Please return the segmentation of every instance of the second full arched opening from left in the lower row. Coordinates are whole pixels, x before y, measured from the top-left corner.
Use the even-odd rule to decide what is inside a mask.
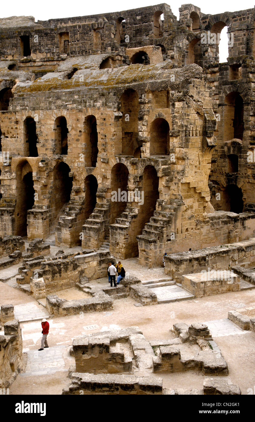
[[[52,218],[58,219],[60,211],[66,203],[70,201],[73,187],[73,177],[69,176],[70,167],[65,162],[60,162],[53,169],[53,189],[52,189]]]

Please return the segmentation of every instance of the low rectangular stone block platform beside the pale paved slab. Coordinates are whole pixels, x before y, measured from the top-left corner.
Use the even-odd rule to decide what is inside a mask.
[[[240,290],[239,276],[232,271],[204,271],[182,276],[182,287],[195,298]]]

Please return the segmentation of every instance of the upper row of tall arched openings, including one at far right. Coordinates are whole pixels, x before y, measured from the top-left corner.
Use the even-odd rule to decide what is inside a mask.
[[[127,89],[120,98],[122,112],[122,149],[119,155],[141,157],[142,143],[138,138],[139,97],[134,89]],[[224,141],[237,138],[242,140],[244,133],[244,101],[239,92],[231,92],[224,103]],[[169,124],[164,118],[155,118],[150,126],[150,150],[152,156],[168,155],[170,148]],[[2,133],[0,133],[1,136]],[[38,157],[38,135],[33,117],[24,120],[24,156]],[[85,166],[95,167],[98,158],[98,131],[95,116],[84,119],[83,141],[86,151]],[[64,116],[54,122],[54,153],[68,154],[68,127]]]

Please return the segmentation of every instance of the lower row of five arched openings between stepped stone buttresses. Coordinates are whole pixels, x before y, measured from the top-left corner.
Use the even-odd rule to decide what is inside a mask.
[[[50,221],[52,225],[56,217],[59,216],[63,206],[70,201],[73,178],[69,176],[70,168],[65,162],[57,163],[53,169],[52,192],[50,199]],[[127,192],[129,171],[122,163],[117,163],[111,169],[111,191],[120,189]],[[88,175],[85,179],[85,200],[84,200],[84,220],[92,214],[97,202],[98,181],[93,175]],[[136,243],[136,236],[141,234],[142,229],[149,218],[153,215],[159,198],[159,177],[152,165],[144,168],[141,189],[144,192],[144,203],[141,204],[136,224],[133,227],[131,239]],[[33,181],[33,170],[31,165],[24,160],[16,170],[16,235],[27,235],[27,215],[35,203],[35,189]],[[111,202],[109,224],[114,224],[115,220],[122,214],[127,206],[126,201]]]

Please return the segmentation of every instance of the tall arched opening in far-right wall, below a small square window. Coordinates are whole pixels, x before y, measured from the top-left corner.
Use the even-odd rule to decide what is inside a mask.
[[[224,106],[224,141],[233,138],[243,140],[244,101],[239,92],[230,92],[225,97]]]

